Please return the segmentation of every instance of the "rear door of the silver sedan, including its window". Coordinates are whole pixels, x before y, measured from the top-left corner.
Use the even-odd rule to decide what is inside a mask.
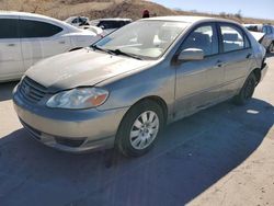
[[[254,60],[251,43],[243,30],[229,23],[219,23],[221,42],[220,61],[225,68],[225,82],[221,96],[227,99],[236,94],[249,75]]]

